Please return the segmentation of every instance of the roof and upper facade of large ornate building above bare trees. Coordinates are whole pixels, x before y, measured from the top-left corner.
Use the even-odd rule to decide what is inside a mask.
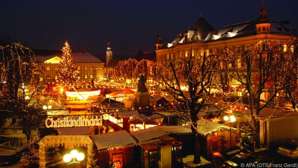
[[[298,29],[289,21],[269,22],[262,0],[259,18],[254,21],[248,20],[226,25],[224,29],[215,30],[201,15],[191,29],[185,31],[184,34],[180,33],[166,45],[163,44],[159,33],[155,44],[156,61],[167,65],[171,60],[187,58],[191,45],[197,53],[202,53],[205,49],[207,54],[224,54],[225,50],[229,49],[240,54],[245,47],[255,45],[265,38],[288,40],[297,36]]]

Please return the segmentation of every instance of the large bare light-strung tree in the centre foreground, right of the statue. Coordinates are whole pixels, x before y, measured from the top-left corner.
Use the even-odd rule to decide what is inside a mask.
[[[198,130],[199,112],[210,116],[220,116],[228,108],[224,98],[229,96],[219,86],[220,62],[223,57],[210,54],[207,50],[195,52],[192,47],[187,54],[177,61],[169,62],[164,68],[157,68],[159,78],[155,79],[174,99],[185,107],[186,120],[190,122],[194,136],[194,163],[200,163],[200,142]],[[161,66],[160,66],[161,67]],[[223,102],[218,106],[218,102]],[[236,103],[236,102],[234,102]],[[210,111],[208,108],[216,108]]]

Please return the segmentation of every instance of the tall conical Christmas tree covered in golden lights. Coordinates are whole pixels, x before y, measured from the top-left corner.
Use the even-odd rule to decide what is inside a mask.
[[[77,83],[79,76],[77,76],[77,71],[75,68],[75,61],[72,57],[72,50],[68,45],[67,41],[65,46],[62,48],[62,60],[60,61],[60,71],[58,72],[57,82],[59,84],[72,85]]]

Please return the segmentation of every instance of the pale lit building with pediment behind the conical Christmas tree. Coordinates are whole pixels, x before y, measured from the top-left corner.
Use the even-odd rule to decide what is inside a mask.
[[[58,77],[62,51],[60,50],[33,50],[36,61],[45,70],[45,75],[55,80]],[[82,81],[103,80],[104,62],[96,58],[88,51],[73,51],[72,56],[75,60],[75,66],[78,76]]]

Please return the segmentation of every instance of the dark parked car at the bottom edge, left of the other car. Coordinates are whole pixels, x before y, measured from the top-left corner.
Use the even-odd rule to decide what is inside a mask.
[[[224,168],[242,168],[241,163],[259,163],[261,160],[250,153],[239,153],[224,162]]]

